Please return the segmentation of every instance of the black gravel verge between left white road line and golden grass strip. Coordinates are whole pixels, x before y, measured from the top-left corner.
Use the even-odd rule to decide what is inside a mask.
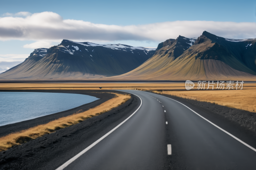
[[[82,90],[78,92],[80,93]],[[124,93],[118,91],[108,92]],[[98,94],[105,95],[104,93]],[[95,97],[103,98],[100,96]],[[140,99],[137,96],[131,95],[130,100],[109,112],[44,135],[26,144],[16,145],[5,152],[0,152],[0,169],[56,169],[124,121],[139,105]],[[94,106],[89,105],[84,107],[84,109],[86,110]],[[81,108],[77,109],[81,110]],[[73,110],[74,112],[76,110]],[[62,115],[59,114],[57,117],[60,116]],[[49,119],[47,120],[49,121]]]

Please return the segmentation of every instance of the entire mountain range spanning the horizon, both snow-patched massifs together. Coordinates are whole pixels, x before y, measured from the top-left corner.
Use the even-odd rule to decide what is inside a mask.
[[[58,46],[36,49],[0,78],[255,80],[255,42],[256,39],[228,39],[206,31],[198,38],[179,35],[168,39],[159,43],[156,50],[63,40]]]

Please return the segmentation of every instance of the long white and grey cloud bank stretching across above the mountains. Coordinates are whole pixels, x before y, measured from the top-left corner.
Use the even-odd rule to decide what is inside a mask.
[[[0,40],[34,40],[41,41],[41,43],[62,39],[94,42],[165,41],[179,35],[190,38],[198,37],[203,31],[225,38],[244,39],[255,38],[255,30],[255,22],[173,21],[147,25],[105,25],[83,20],[63,20],[59,14],[54,12],[34,13],[25,18],[0,18]],[[32,48],[35,44],[28,44],[24,47]]]

